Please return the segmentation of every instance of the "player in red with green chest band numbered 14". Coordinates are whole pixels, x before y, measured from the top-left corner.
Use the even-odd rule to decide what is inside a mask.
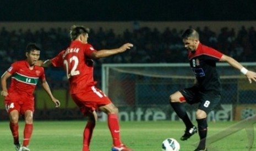
[[[15,150],[28,151],[28,145],[33,130],[34,96],[37,82],[41,81],[43,89],[51,97],[56,107],[60,102],[53,97],[49,85],[45,79],[43,67],[35,66],[34,62],[40,57],[40,49],[36,44],[28,44],[26,47],[26,60],[12,63],[9,69],[1,77],[4,103],[10,118],[10,131],[12,131]],[[7,90],[7,79],[11,77],[9,89]],[[23,146],[19,142],[19,114],[24,115],[24,141]]]

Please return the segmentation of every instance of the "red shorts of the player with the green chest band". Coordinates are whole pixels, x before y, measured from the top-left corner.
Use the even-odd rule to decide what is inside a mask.
[[[35,102],[34,97],[18,96],[15,98],[6,97],[4,100],[6,110],[8,113],[17,110],[20,114],[24,115],[25,111],[30,110],[34,113]]]

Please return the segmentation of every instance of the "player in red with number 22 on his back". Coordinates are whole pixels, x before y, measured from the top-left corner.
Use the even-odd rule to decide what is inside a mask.
[[[66,70],[70,84],[70,95],[80,108],[80,111],[89,117],[84,129],[83,151],[89,150],[92,132],[97,120],[96,110],[105,112],[108,116],[108,127],[113,139],[112,150],[132,150],[121,142],[118,108],[104,92],[95,87],[93,78],[94,62],[92,59],[123,53],[133,47],[133,44],[126,43],[117,49],[97,51],[87,42],[88,33],[88,29],[83,26],[72,26],[70,29],[70,38],[72,40],[70,46],[51,60],[43,63],[38,61],[37,65],[44,67],[53,65],[55,67],[64,67]]]

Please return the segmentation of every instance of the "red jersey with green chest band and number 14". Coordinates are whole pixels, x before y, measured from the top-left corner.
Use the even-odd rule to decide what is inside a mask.
[[[11,99],[21,95],[23,97],[33,97],[33,92],[39,78],[45,79],[43,67],[34,66],[33,69],[30,69],[29,63],[26,60],[14,62],[7,72],[12,74],[8,89],[9,95],[7,96]]]

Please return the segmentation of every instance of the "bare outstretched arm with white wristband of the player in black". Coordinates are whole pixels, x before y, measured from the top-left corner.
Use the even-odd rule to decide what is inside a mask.
[[[229,63],[232,67],[239,69],[244,75],[246,75],[247,79],[249,80],[249,83],[252,83],[252,80],[254,80],[254,82],[256,82],[256,73],[253,71],[248,71],[248,69],[243,67],[241,65],[241,63],[239,63],[232,57],[223,55],[221,57],[220,61],[223,61],[223,62],[225,61],[225,62]]]

